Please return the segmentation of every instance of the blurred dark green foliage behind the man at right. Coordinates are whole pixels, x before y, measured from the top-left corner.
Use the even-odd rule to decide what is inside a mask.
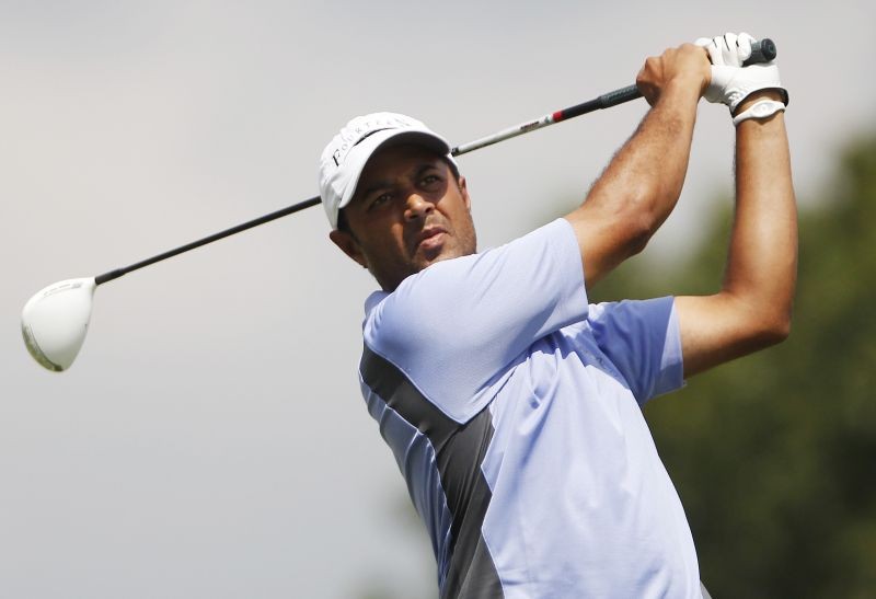
[[[800,219],[782,345],[692,379],[646,415],[715,597],[876,596],[876,137]],[[729,215],[671,280],[621,269],[603,298],[717,290]]]

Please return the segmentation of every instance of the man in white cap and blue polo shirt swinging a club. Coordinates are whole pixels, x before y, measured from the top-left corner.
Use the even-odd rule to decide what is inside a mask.
[[[429,531],[441,597],[702,596],[641,406],[788,334],[787,95],[774,65],[741,68],[751,39],[648,58],[637,85],[652,108],[584,204],[480,254],[465,178],[422,123],[360,117],[323,152],[330,237],[382,288],[366,301],[362,393]],[[737,127],[721,291],[588,306],[672,210],[703,94]]]

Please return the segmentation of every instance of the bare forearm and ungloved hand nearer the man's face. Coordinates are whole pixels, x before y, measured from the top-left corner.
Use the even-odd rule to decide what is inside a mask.
[[[575,229],[588,286],[641,252],[676,206],[708,77],[706,53],[691,44],[645,62],[636,84],[650,111],[584,204],[565,217]]]

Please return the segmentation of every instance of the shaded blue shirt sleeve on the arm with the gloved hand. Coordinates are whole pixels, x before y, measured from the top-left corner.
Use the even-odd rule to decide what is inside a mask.
[[[624,377],[639,405],[683,385],[673,298],[595,304],[588,321],[597,345]]]

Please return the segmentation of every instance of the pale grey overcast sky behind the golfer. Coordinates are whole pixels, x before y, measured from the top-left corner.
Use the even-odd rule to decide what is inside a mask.
[[[463,142],[725,31],[779,46],[806,204],[873,129],[874,23],[865,0],[0,0],[0,596],[434,596],[358,390],[374,284],[321,208],[101,287],[62,375],[27,356],[25,301],[315,195],[323,146],[357,114]],[[570,209],[645,108],[461,158],[481,245]],[[657,267],[730,192],[731,152],[726,108],[703,103]]]

